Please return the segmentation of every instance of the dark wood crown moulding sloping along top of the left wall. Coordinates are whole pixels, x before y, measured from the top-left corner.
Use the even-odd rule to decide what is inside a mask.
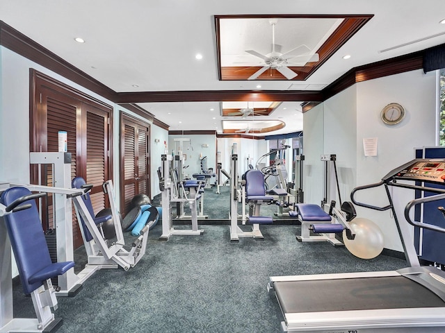
[[[31,40],[31,38],[15,30],[15,28],[8,26],[3,21],[0,21],[0,44],[51,71],[55,71],[57,74],[72,80],[82,87],[86,87],[92,92],[104,96],[106,99],[111,101],[114,99],[115,91],[74,67],[55,53],[45,49],[42,45]]]

